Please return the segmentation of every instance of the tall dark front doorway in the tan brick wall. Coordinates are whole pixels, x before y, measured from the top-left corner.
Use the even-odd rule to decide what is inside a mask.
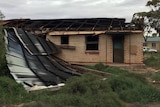
[[[113,62],[124,62],[124,36],[113,36]]]

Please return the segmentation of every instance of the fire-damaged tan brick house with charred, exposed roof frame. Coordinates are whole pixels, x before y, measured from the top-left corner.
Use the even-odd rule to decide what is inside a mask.
[[[43,34],[72,64],[143,64],[143,30],[123,18],[10,20],[6,26]]]

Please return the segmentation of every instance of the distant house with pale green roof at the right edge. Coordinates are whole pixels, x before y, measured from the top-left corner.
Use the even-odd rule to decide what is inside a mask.
[[[160,51],[160,37],[146,37],[143,45]]]

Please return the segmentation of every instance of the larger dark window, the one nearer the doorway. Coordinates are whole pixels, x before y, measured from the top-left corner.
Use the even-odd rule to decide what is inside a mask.
[[[98,36],[86,36],[86,50],[98,50]]]

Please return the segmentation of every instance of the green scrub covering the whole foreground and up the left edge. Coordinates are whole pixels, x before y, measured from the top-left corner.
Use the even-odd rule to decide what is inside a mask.
[[[2,31],[1,31],[2,32]],[[22,84],[10,78],[6,60],[3,34],[0,36],[0,106],[23,104],[23,107],[125,107],[129,103],[160,101],[160,90],[148,84],[143,75],[98,63],[87,66],[95,70],[114,74],[103,78],[86,73],[67,80],[58,92],[37,91],[28,93]],[[147,55],[147,66],[158,67],[160,55]],[[157,64],[157,65],[156,65]],[[160,80],[160,73],[152,75]]]

